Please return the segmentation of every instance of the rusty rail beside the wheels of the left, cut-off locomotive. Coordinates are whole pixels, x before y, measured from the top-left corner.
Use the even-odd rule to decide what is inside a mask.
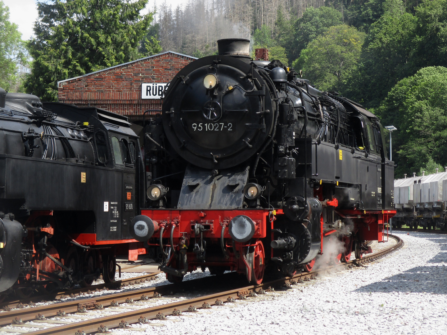
[[[21,306],[21,308],[26,307],[28,305],[34,305],[37,302],[42,301],[50,301],[50,300],[60,300],[64,297],[70,296],[75,297],[76,295],[79,295],[80,293],[88,293],[88,292],[94,292],[99,291],[101,289],[119,289],[124,286],[135,284],[135,282],[144,282],[144,281],[151,281],[155,279],[155,277],[160,273],[160,271],[149,273],[143,276],[128,278],[128,279],[121,279],[118,281],[115,281],[113,283],[102,283],[97,285],[91,285],[89,287],[79,287],[75,289],[66,289],[66,290],[58,290],[57,292],[53,293],[47,293],[47,294],[40,294],[31,296],[28,299],[13,299],[13,300],[5,300],[0,303],[0,309],[3,310],[9,310],[11,308],[16,308],[17,306]],[[0,313],[1,315],[1,313]]]

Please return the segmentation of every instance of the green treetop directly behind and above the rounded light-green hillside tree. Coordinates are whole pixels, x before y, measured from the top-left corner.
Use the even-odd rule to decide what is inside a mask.
[[[287,40],[288,59],[297,59],[301,50],[333,25],[342,24],[342,13],[329,7],[308,8],[302,17],[292,25],[291,36]]]

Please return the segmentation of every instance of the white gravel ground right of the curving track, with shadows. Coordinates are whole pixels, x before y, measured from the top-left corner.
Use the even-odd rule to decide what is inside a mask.
[[[405,246],[364,268],[264,301],[213,306],[202,314],[168,317],[172,321],[164,326],[114,333],[447,334],[447,235],[396,235]]]

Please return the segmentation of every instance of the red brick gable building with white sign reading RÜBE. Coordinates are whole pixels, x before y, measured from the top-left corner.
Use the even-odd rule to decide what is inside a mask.
[[[147,109],[161,109],[166,84],[194,57],[167,51],[58,82],[58,100],[95,106],[142,119]],[[156,93],[155,99],[152,99]]]

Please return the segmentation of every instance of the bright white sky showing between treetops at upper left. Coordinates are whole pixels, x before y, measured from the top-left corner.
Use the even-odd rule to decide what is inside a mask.
[[[33,26],[37,20],[36,0],[2,0],[6,6],[9,7],[9,21],[16,23],[19,26],[19,31],[22,33],[22,39],[27,40],[34,34]],[[157,6],[162,4],[164,0],[155,0]],[[186,3],[187,0],[166,0],[168,4],[172,4],[173,8],[178,4]],[[154,0],[149,0],[149,9],[154,8]],[[142,12],[143,13],[143,12]]]

